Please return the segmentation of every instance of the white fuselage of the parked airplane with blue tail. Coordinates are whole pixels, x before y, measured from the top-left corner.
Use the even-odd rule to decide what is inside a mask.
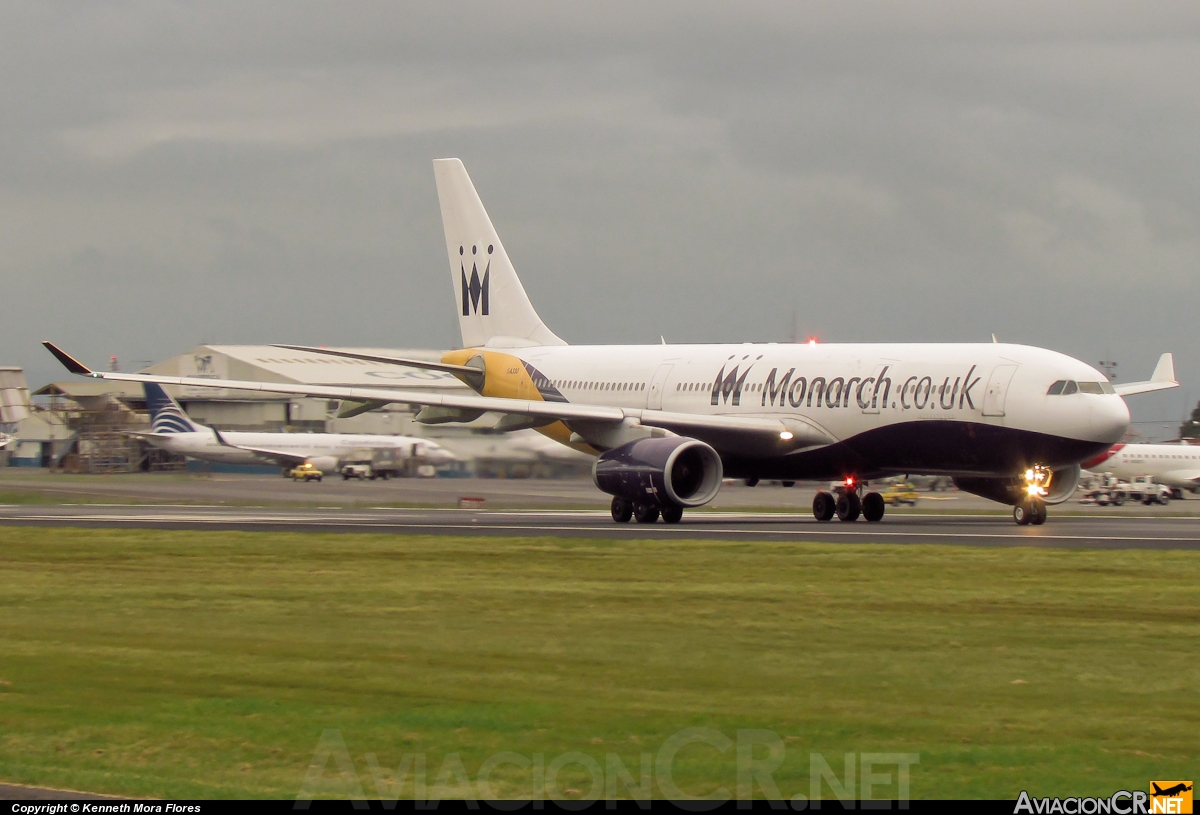
[[[157,448],[227,465],[262,465],[266,460],[240,447],[277,450],[307,460],[336,459],[341,461],[356,450],[390,449],[397,459],[451,457],[443,449],[427,439],[412,436],[371,436],[365,433],[245,433],[226,432],[222,437],[228,444],[221,444],[212,431],[204,427],[191,433],[161,433],[148,438]],[[233,447],[230,447],[233,445]]]

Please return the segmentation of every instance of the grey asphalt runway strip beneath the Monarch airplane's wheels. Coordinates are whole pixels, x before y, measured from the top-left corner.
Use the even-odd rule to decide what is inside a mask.
[[[880,523],[818,523],[799,513],[694,511],[682,523],[614,523],[604,510],[265,509],[172,505],[0,505],[11,526],[247,532],[505,535],[622,540],[776,540],[1061,549],[1200,550],[1200,520],[1111,515],[1019,527],[997,515],[905,513]]]

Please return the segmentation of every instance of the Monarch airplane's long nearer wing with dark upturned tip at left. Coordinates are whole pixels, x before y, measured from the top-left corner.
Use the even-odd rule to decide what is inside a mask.
[[[721,438],[738,438],[770,442],[778,449],[802,449],[820,444],[829,444],[835,439],[824,431],[802,420],[781,421],[778,419],[754,417],[701,415],[690,413],[670,413],[638,408],[619,408],[607,404],[577,404],[574,402],[540,402],[520,398],[502,398],[497,396],[479,396],[466,394],[430,394],[415,390],[379,390],[374,388],[348,388],[341,385],[283,384],[275,382],[247,382],[240,379],[205,379],[199,377],[161,377],[146,373],[120,373],[92,371],[83,362],[64,352],[52,342],[42,344],[62,362],[71,372],[89,376],[95,379],[113,379],[116,382],[154,382],[160,385],[186,385],[194,388],[230,388],[264,394],[288,394],[292,396],[313,396],[318,398],[341,398],[361,403],[402,403],[420,404],[426,408],[438,408],[451,417],[463,414],[479,415],[482,412],[506,413],[518,417],[545,419],[546,424],[562,420],[568,424],[617,426],[631,421],[648,427],[662,427],[671,432],[682,432],[709,443]],[[451,419],[456,420],[456,419]],[[466,420],[466,419],[463,419]]]

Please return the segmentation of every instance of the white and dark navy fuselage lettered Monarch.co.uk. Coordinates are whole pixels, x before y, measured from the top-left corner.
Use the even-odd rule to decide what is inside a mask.
[[[1104,374],[1028,346],[541,346],[504,353],[534,368],[547,401],[773,418],[815,427],[830,442],[756,456],[712,441],[731,475],[1013,473],[1032,463],[1076,463],[1120,439],[1129,423]],[[1088,383],[1096,392],[1050,395],[1060,380]]]

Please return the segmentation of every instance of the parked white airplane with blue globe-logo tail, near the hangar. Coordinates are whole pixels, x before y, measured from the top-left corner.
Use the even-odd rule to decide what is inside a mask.
[[[368,436],[362,433],[245,433],[218,432],[192,421],[162,385],[143,382],[150,431],[133,431],[156,448],[227,465],[281,467],[312,465],[323,472],[335,472],[340,462],[355,450],[392,449],[402,459],[415,456],[427,463],[455,461],[452,453],[424,438],[412,436]]]

